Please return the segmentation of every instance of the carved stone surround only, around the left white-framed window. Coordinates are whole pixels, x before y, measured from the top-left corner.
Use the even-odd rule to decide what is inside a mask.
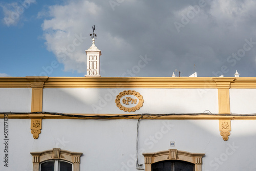
[[[80,157],[82,153],[53,148],[43,152],[31,152],[30,154],[33,156],[33,171],[40,171],[40,164],[51,160],[71,163],[72,171],[80,170]]]

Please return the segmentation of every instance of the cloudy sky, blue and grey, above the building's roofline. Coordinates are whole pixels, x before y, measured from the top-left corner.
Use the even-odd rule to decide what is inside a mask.
[[[101,76],[256,77],[253,0],[4,0],[0,76],[84,76],[101,50]]]

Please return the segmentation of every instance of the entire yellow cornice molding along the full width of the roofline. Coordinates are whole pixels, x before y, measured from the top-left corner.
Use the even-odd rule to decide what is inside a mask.
[[[256,89],[255,77],[0,77],[0,88]]]

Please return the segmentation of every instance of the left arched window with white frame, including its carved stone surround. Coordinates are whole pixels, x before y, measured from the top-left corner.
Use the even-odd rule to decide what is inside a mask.
[[[82,153],[53,148],[44,152],[32,152],[33,171],[79,171]]]

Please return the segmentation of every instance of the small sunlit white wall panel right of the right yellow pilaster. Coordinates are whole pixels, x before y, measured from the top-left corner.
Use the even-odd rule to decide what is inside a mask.
[[[231,113],[256,113],[256,89],[230,89],[229,96]]]

